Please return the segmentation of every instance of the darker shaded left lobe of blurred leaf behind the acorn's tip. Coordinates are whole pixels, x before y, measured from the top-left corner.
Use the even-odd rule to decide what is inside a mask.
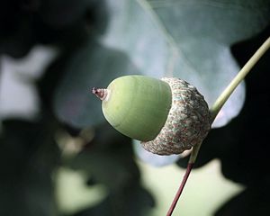
[[[58,118],[78,128],[104,121],[101,102],[91,93],[92,88],[104,87],[117,76],[138,73],[121,51],[88,40],[74,52],[58,85],[54,97]]]

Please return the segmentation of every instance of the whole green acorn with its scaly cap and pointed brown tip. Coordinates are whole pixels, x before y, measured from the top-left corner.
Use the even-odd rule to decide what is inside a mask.
[[[193,148],[211,128],[202,94],[180,78],[121,76],[92,92],[102,100],[103,115],[112,127],[157,155]]]

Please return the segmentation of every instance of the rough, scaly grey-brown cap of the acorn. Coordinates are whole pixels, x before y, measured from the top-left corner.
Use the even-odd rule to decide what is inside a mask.
[[[180,154],[202,142],[211,128],[207,103],[197,89],[179,78],[162,78],[171,87],[172,105],[157,137],[141,142],[157,155]]]

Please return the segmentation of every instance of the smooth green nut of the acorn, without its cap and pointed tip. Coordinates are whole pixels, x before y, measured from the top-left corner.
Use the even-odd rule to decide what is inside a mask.
[[[140,141],[157,137],[171,106],[169,85],[147,76],[121,76],[105,91],[102,109],[112,127]]]

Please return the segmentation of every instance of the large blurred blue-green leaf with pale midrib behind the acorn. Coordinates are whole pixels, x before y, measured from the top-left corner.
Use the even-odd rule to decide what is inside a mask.
[[[55,97],[58,117],[76,127],[103,121],[100,103],[88,89],[127,74],[182,77],[213,103],[238,72],[229,47],[262,31],[270,18],[263,0],[107,4],[110,23],[102,43],[91,40],[77,50]],[[219,125],[238,114],[244,93],[242,84],[223,108]]]

